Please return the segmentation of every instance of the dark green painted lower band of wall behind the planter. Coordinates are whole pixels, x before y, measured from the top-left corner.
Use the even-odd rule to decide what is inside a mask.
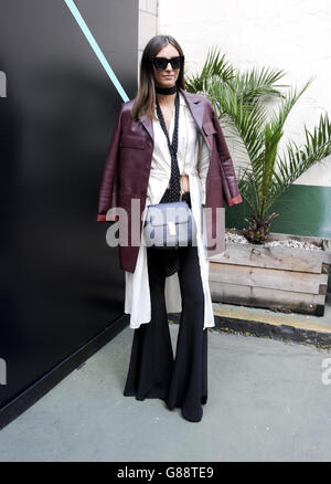
[[[292,185],[271,207],[277,212],[270,232],[292,235],[316,235],[331,239],[331,188]],[[226,228],[247,229],[249,207],[245,203],[225,206]],[[331,274],[328,281],[331,292]]]

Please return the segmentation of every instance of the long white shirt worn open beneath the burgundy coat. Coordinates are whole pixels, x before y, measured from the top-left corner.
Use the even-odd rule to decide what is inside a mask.
[[[170,143],[172,140],[173,129],[174,112],[169,128]],[[148,204],[159,203],[171,177],[171,156],[167,137],[158,119],[153,120],[153,134],[154,148],[151,160],[146,208],[142,212],[142,224]],[[207,252],[203,242],[204,227],[202,218],[202,204],[205,203],[205,179],[210,164],[210,151],[182,94],[180,94],[179,146],[177,156],[180,175],[189,175],[190,180],[190,198],[192,214],[196,224],[196,245],[204,292],[203,328],[205,329],[206,327],[215,326],[209,285]],[[143,231],[141,232],[141,244],[138,252],[135,272],[130,273],[125,271],[125,313],[130,314],[130,327],[135,329],[141,324],[151,320],[147,246],[143,243]],[[180,313],[182,311],[178,272],[166,277],[164,297],[167,313]]]

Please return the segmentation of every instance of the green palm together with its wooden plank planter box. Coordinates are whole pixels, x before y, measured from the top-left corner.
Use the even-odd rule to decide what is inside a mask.
[[[244,152],[238,186],[250,217],[244,230],[227,230],[224,254],[211,257],[213,301],[322,315],[331,263],[330,239],[270,232],[273,206],[305,171],[331,154],[328,114],[298,146],[284,140],[284,125],[301,90],[277,84],[281,70],[235,70],[212,50],[199,74],[186,76],[189,92],[206,94],[225,133]],[[284,91],[285,90],[285,91]],[[277,101],[277,108],[270,108]],[[238,151],[238,152],[239,152]]]

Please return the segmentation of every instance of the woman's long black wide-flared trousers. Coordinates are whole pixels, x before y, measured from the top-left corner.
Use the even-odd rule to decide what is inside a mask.
[[[202,419],[207,400],[207,329],[204,324],[204,293],[196,246],[182,246],[179,282],[182,312],[175,358],[166,311],[166,275],[162,251],[147,248],[151,297],[151,320],[135,329],[124,394],[137,400],[160,398],[172,410],[181,408],[190,421]]]

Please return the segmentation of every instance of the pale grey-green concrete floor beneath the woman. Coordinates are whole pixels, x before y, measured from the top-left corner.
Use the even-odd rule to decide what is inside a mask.
[[[170,330],[175,349],[178,326]],[[132,332],[7,425],[0,461],[331,460],[330,351],[209,332],[209,401],[202,421],[189,422],[161,400],[122,396]]]

